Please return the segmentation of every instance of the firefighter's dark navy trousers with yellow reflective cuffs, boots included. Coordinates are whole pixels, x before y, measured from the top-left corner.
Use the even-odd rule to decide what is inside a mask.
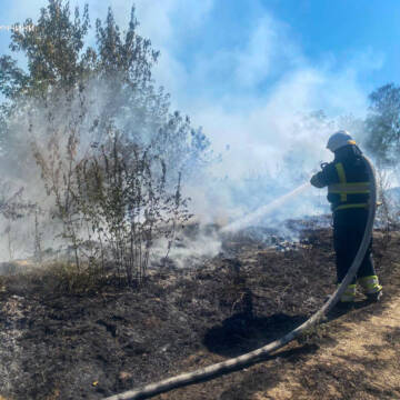
[[[343,280],[356,258],[364,233],[367,220],[367,209],[344,209],[333,213],[333,246],[338,283]],[[354,300],[357,282],[362,287],[366,294],[377,293],[382,289],[373,268],[371,250],[372,239],[358,270],[357,278],[348,286],[341,297],[341,301],[347,302]]]

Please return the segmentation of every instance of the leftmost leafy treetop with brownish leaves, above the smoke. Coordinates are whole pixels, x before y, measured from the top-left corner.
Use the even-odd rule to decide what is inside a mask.
[[[14,24],[10,49],[24,53],[28,71],[21,70],[9,56],[0,58],[0,90],[7,98],[43,96],[54,86],[70,89],[90,71],[94,53],[91,48],[82,53],[89,29],[88,6],[82,20],[78,8],[73,21],[70,17],[69,3],[50,0],[41,9],[37,24],[30,18],[22,26]]]

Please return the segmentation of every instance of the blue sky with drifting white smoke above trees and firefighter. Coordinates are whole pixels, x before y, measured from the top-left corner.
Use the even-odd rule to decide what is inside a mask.
[[[70,1],[82,6],[84,1]],[[111,4],[123,28],[126,0],[93,1],[92,21]],[[0,26],[38,16],[46,0],[0,0]],[[293,139],[298,112],[366,113],[368,93],[400,71],[399,0],[138,0],[140,32],[161,50],[154,69],[172,106],[213,140],[230,144],[226,169],[266,168],[288,142],[309,143],[314,158],[328,132]],[[93,40],[93,36],[91,39]],[[0,53],[9,33],[0,31]],[[21,59],[21,61],[23,61]],[[271,161],[272,160],[272,161]]]

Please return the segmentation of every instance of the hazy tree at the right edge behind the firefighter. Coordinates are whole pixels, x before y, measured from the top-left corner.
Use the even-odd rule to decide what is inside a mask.
[[[397,164],[400,151],[400,87],[388,83],[374,90],[369,99],[371,104],[366,119],[367,148],[380,163]]]

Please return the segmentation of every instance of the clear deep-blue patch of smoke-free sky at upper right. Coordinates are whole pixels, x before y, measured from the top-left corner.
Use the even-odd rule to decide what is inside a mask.
[[[370,51],[382,60],[382,66],[370,73],[360,71],[366,90],[399,79],[399,1],[283,0],[272,3],[271,12],[292,27],[304,54],[311,60],[331,54],[340,64],[352,59],[354,53]]]

